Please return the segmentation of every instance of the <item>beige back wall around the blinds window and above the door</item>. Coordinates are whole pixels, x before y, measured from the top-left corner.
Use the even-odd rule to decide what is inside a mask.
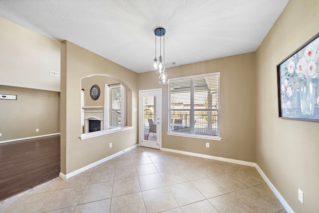
[[[255,162],[255,53],[167,68],[170,78],[212,72],[220,72],[221,141],[168,136],[168,86],[159,84],[154,71],[139,74],[139,90],[162,88],[162,147]],[[210,148],[205,147],[206,142]]]

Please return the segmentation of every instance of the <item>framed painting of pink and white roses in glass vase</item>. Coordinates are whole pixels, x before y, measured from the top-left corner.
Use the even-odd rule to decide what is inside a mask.
[[[319,33],[277,65],[279,118],[319,122]]]

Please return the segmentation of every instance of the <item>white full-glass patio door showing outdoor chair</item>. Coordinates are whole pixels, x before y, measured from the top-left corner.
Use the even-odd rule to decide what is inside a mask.
[[[160,149],[160,89],[140,91],[140,146]]]

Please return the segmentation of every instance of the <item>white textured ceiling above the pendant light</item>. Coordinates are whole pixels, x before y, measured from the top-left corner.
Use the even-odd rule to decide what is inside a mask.
[[[151,71],[157,27],[167,66],[237,55],[258,48],[288,1],[1,0],[0,16],[141,73]]]

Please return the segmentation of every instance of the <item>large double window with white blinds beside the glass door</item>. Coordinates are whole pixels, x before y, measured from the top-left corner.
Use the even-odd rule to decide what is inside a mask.
[[[219,137],[219,73],[170,79],[170,133]]]

